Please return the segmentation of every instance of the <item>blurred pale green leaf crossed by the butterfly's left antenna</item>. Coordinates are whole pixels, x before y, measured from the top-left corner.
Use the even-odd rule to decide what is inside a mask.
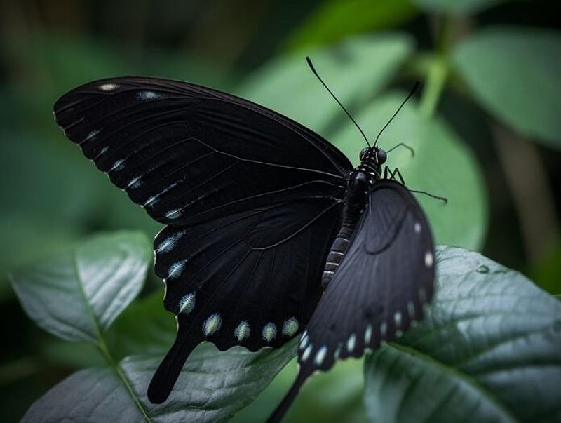
[[[412,53],[412,41],[401,34],[363,36],[307,53],[339,100],[350,107],[368,100],[393,78]],[[337,102],[313,76],[302,52],[271,60],[239,92],[324,136],[334,126],[348,123]]]

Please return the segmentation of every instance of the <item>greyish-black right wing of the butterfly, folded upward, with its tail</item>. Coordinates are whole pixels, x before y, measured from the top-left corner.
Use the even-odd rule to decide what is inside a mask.
[[[402,184],[376,182],[302,335],[297,380],[269,421],[279,421],[314,371],[329,370],[339,358],[362,356],[421,320],[434,277],[433,239],[419,204]]]

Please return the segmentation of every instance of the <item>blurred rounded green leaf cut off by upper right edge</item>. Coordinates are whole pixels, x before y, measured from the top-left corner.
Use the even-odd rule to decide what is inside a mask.
[[[472,95],[497,119],[561,148],[561,34],[496,27],[461,43],[452,60]]]

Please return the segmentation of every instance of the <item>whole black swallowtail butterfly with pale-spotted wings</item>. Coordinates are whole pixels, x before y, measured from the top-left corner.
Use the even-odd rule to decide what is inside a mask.
[[[205,340],[256,351],[306,328],[278,420],[312,372],[422,318],[433,240],[398,170],[382,175],[384,150],[363,149],[353,169],[285,116],[149,77],[87,83],[54,113],[111,182],[167,225],[154,240],[155,269],[178,330],[148,388],[152,403],[168,398]]]

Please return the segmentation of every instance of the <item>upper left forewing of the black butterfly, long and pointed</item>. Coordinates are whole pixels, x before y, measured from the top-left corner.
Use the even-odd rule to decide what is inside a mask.
[[[55,104],[55,119],[149,215],[193,224],[278,199],[340,196],[351,164],[303,126],[188,83],[116,78]]]

